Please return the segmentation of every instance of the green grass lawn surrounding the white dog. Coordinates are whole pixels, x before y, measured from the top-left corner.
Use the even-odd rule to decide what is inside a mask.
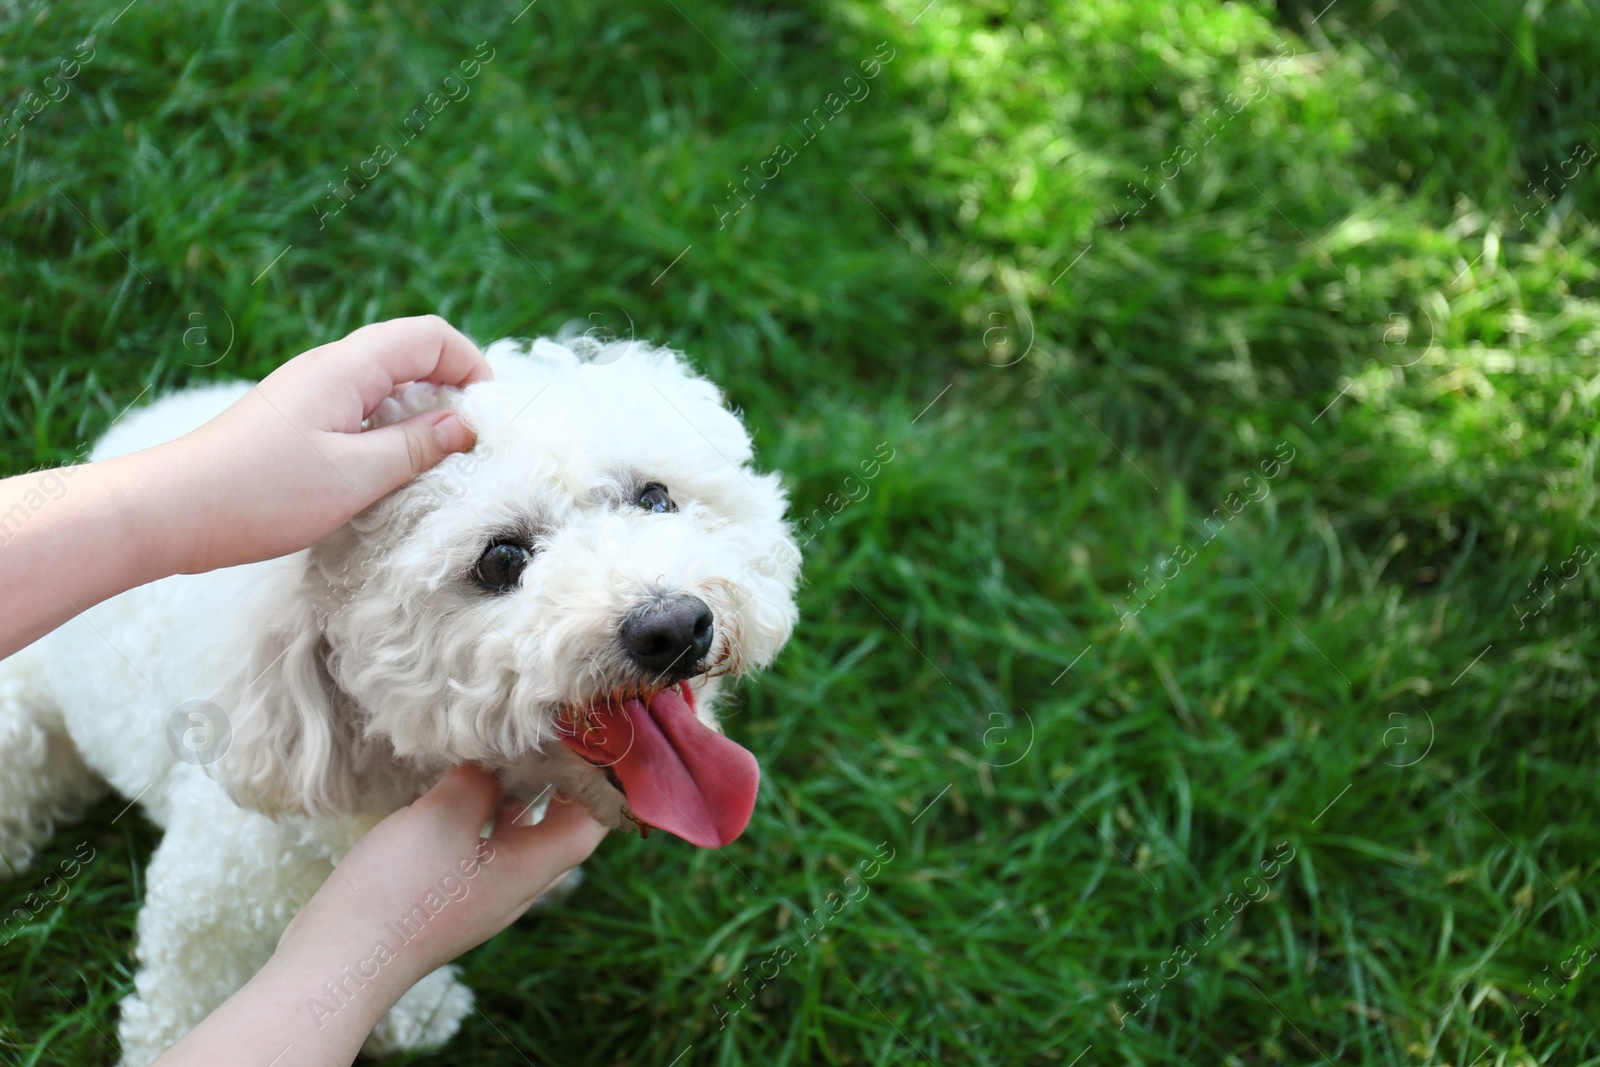
[[[1600,961],[1550,979],[1600,945],[1600,568],[1517,611],[1600,553],[1592,5],[120,6],[0,34],[6,107],[94,48],[0,157],[5,470],[424,310],[685,347],[802,515],[894,450],[730,718],[749,832],[608,841],[406,1062],[1600,1062]],[[6,1061],[114,1062],[120,808],[0,889],[96,849],[0,949]]]

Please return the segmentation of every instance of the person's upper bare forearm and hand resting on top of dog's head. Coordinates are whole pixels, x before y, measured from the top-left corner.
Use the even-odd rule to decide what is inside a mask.
[[[442,318],[395,318],[290,360],[174,442],[0,482],[0,657],[134,585],[325,537],[472,445],[448,411],[362,432],[397,384],[486,378]]]

